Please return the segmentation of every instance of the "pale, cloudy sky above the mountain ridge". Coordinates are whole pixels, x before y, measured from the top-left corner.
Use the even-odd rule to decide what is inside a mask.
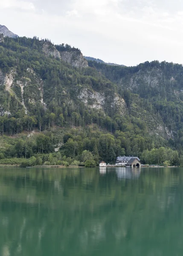
[[[0,24],[105,62],[183,64],[182,0],[0,0]]]

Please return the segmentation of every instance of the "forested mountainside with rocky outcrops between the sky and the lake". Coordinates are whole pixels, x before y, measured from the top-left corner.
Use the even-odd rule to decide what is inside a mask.
[[[68,44],[0,37],[0,163],[182,164],[182,65],[88,63]]]

